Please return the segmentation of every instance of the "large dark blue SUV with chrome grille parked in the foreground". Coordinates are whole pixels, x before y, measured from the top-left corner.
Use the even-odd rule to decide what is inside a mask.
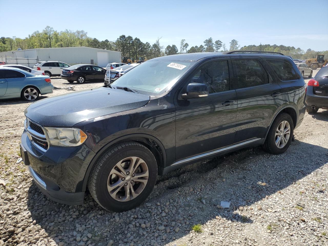
[[[88,187],[103,208],[126,211],[147,198],[157,174],[245,147],[285,152],[304,96],[287,56],[158,57],[111,85],[31,104],[21,154],[51,199],[81,204]]]

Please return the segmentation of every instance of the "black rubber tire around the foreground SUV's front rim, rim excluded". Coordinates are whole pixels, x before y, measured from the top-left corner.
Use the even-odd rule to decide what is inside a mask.
[[[107,189],[110,172],[120,160],[137,156],[147,164],[148,181],[142,192],[130,201],[114,199]],[[123,212],[139,206],[152,192],[157,178],[157,163],[153,153],[137,142],[118,144],[102,154],[95,163],[88,180],[88,188],[93,199],[104,209]]]

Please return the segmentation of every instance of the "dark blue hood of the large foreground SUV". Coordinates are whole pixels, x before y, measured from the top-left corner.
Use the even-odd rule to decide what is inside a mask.
[[[41,126],[72,127],[84,120],[140,108],[149,100],[149,95],[99,87],[36,101],[25,115]]]

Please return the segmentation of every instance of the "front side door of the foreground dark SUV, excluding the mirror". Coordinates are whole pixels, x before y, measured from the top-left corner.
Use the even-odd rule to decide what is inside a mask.
[[[198,66],[175,95],[176,160],[207,153],[235,142],[237,97],[230,58],[207,61]],[[189,83],[204,83],[207,97],[181,99]]]

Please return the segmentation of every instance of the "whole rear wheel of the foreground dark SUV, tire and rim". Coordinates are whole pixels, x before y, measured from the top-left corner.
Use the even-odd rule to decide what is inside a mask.
[[[294,123],[288,113],[282,113],[276,117],[265,139],[263,148],[271,154],[284,153],[293,138]]]

